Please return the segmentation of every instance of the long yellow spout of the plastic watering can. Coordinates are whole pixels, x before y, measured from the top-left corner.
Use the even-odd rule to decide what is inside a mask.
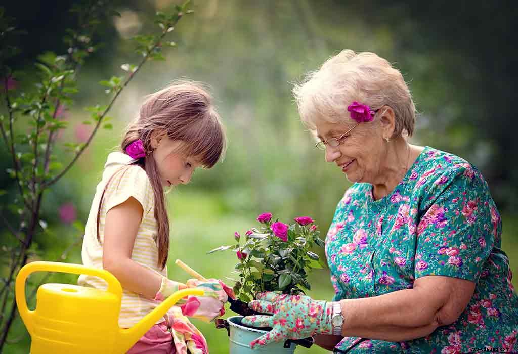
[[[118,348],[120,352],[126,352],[146,333],[149,329],[158,321],[169,308],[174,306],[180,299],[189,296],[197,295],[202,296],[203,290],[199,289],[183,289],[175,292],[170,297],[165,299],[160,305],[158,305],[153,311],[147,314],[139,322],[137,322],[132,328],[120,330],[120,341]]]

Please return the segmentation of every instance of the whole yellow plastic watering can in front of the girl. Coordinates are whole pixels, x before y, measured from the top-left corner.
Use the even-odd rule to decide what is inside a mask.
[[[38,271],[98,276],[108,283],[108,289],[44,284],[36,294],[36,309],[30,310],[25,301],[25,279]],[[32,338],[31,354],[125,353],[178,300],[203,293],[198,289],[177,291],[135,326],[121,329],[122,287],[108,271],[80,264],[32,262],[25,265],[16,278],[16,303]]]

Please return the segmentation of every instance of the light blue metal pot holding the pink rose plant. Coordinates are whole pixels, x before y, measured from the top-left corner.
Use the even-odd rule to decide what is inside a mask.
[[[243,316],[232,316],[226,319],[230,328],[229,354],[257,354],[258,352],[289,354],[295,351],[296,344],[291,342],[289,342],[289,347],[287,348],[284,348],[284,342],[279,342],[268,344],[264,348],[252,350],[250,348],[250,342],[268,332],[242,326],[242,318]]]

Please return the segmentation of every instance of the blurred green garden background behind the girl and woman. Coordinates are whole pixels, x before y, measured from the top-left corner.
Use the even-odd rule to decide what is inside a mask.
[[[70,3],[4,5],[28,32],[19,43],[23,52],[15,64],[27,73],[19,78],[18,90],[30,87],[36,55],[65,51],[61,37],[73,24],[67,14]],[[81,68],[80,92],[76,105],[65,112],[69,128],[60,143],[85,139],[91,127],[81,124],[88,117],[84,107],[109,99],[98,81],[123,75],[121,64],[137,60],[127,39],[153,31],[154,12],[174,5],[169,0],[116,2],[122,17],[105,25],[97,38],[104,47]],[[309,215],[325,234],[349,183],[313,149],[291,90],[305,72],[350,48],[387,58],[409,82],[420,112],[413,143],[452,152],[483,171],[502,213],[502,248],[518,274],[518,124],[512,107],[518,57],[512,29],[515,2],[195,0],[192,8],[195,13],[182,19],[169,37],[178,47],[165,52],[165,62],[148,63],[123,91],[110,114],[113,130],[101,131],[75,167],[46,193],[42,218],[49,227],[35,239],[36,259],[59,259],[64,249],[80,240],[73,223],[86,222],[106,156],[120,144],[143,95],[180,77],[212,86],[229,147],[223,163],[197,171],[190,185],[167,197],[172,222],[170,277],[188,278],[174,265],[176,258],[206,277],[231,275],[233,254],[206,252],[231,244],[234,231],[246,231],[262,212],[283,220]],[[0,168],[5,171],[10,159],[4,144],[0,152]],[[59,156],[64,164],[71,158],[65,152]],[[0,197],[6,204],[16,189],[4,172],[0,181],[9,192]],[[2,244],[11,243],[9,238],[0,229]],[[80,243],[70,248],[65,261],[81,261]],[[49,281],[75,278],[52,275]],[[327,270],[315,271],[310,283],[312,297],[333,296]],[[516,277],[513,284],[518,286]],[[224,330],[196,324],[212,353],[228,352]],[[19,319],[9,340],[6,353],[28,351],[29,338]],[[325,351],[313,347],[297,352]]]

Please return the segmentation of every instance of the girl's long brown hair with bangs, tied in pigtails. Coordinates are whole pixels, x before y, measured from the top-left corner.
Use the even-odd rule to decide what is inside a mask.
[[[151,153],[153,151],[151,141],[160,140],[164,136],[172,140],[181,140],[183,144],[180,144],[176,153],[199,157],[204,168],[212,168],[223,157],[226,149],[224,127],[214,109],[212,97],[202,83],[178,80],[165,89],[147,96],[140,107],[138,118],[127,128],[121,143],[121,149],[125,153],[128,145],[140,139],[148,152],[146,157],[138,159],[133,164],[139,165],[146,171],[153,187],[154,216],[158,228],[156,238],[159,248],[158,265],[162,269],[166,265],[169,253],[169,218],[159,170]],[[99,242],[100,211],[104,193],[110,181],[111,178],[106,183],[97,212]]]

